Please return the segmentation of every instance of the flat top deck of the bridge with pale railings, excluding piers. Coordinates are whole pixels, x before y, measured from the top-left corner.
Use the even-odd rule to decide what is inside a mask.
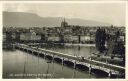
[[[125,67],[122,67],[122,66],[108,64],[108,63],[105,63],[105,62],[91,60],[91,59],[88,59],[88,58],[83,59],[81,57],[72,56],[70,54],[64,54],[64,53],[55,52],[55,51],[42,49],[42,48],[37,48],[37,47],[30,47],[30,46],[24,45],[24,44],[16,44],[16,46],[22,47],[22,48],[29,48],[31,50],[37,50],[37,51],[49,53],[49,54],[52,54],[52,55],[57,55],[57,56],[64,57],[64,58],[69,58],[69,59],[76,60],[76,61],[79,61],[79,62],[89,63],[89,64],[92,64],[92,65],[100,66],[100,67],[107,68],[107,69],[112,69],[112,70],[119,71],[119,72],[125,72]]]

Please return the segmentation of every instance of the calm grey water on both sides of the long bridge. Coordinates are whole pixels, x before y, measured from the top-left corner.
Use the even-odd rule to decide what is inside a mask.
[[[89,47],[54,46],[45,48],[85,57],[89,54]],[[96,76],[55,62],[49,63],[48,60],[41,57],[16,50],[3,51],[3,78],[96,78]]]

